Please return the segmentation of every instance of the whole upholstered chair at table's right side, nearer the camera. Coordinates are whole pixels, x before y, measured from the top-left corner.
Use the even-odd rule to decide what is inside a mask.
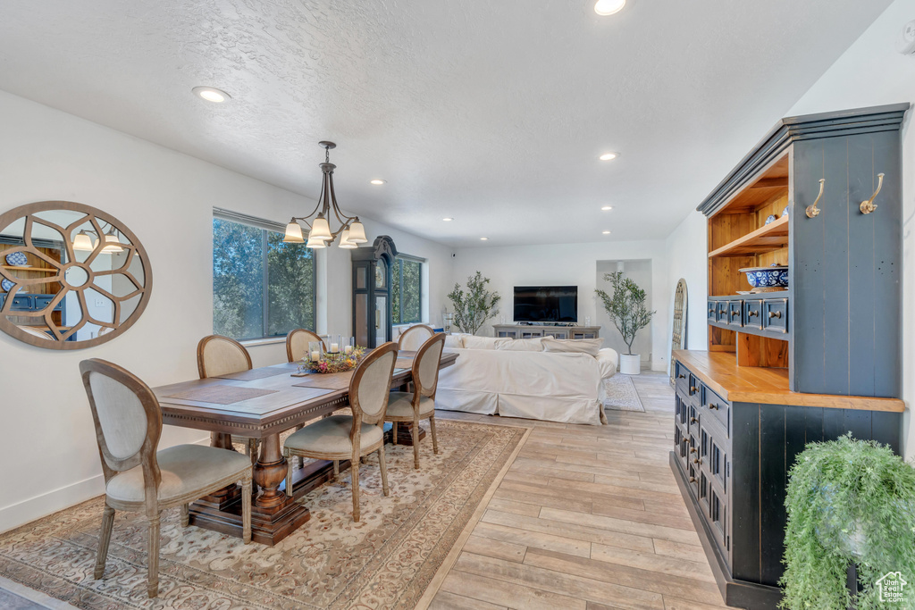
[[[382,490],[388,496],[388,470],[384,463],[384,412],[394,365],[397,344],[388,342],[374,348],[362,359],[350,380],[352,415],[331,415],[309,423],[285,440],[283,455],[333,460],[334,476],[339,475],[340,460],[350,460],[352,475],[352,520],[359,521],[359,464],[363,455],[378,452],[382,469]],[[292,463],[285,480],[286,493],[292,495]]]

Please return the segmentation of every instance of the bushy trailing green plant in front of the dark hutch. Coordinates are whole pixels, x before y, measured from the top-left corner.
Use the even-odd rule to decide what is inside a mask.
[[[808,444],[791,468],[782,608],[847,608],[846,570],[855,562],[864,589],[859,610],[886,605],[877,580],[900,572],[915,588],[915,468],[888,446],[851,434]]]

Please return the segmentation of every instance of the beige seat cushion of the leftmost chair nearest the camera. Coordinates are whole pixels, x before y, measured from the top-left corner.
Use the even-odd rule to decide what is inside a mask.
[[[203,490],[199,496],[204,496],[209,492],[208,487],[221,479],[237,477],[241,480],[245,474],[251,476],[250,457],[199,444],[168,447],[156,452],[156,461],[162,474],[157,497],[163,504],[198,490]],[[143,466],[135,466],[113,476],[105,486],[105,493],[114,500],[142,504]]]

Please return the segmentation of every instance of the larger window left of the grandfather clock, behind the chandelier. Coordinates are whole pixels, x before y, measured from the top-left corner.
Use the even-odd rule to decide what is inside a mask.
[[[315,257],[283,227],[224,210],[213,216],[213,332],[283,337],[315,327]]]

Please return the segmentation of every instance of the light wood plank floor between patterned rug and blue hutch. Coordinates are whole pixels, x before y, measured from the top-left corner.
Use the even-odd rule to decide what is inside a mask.
[[[668,466],[673,390],[634,380],[645,412],[605,426],[436,413],[533,431],[431,608],[725,607]]]

